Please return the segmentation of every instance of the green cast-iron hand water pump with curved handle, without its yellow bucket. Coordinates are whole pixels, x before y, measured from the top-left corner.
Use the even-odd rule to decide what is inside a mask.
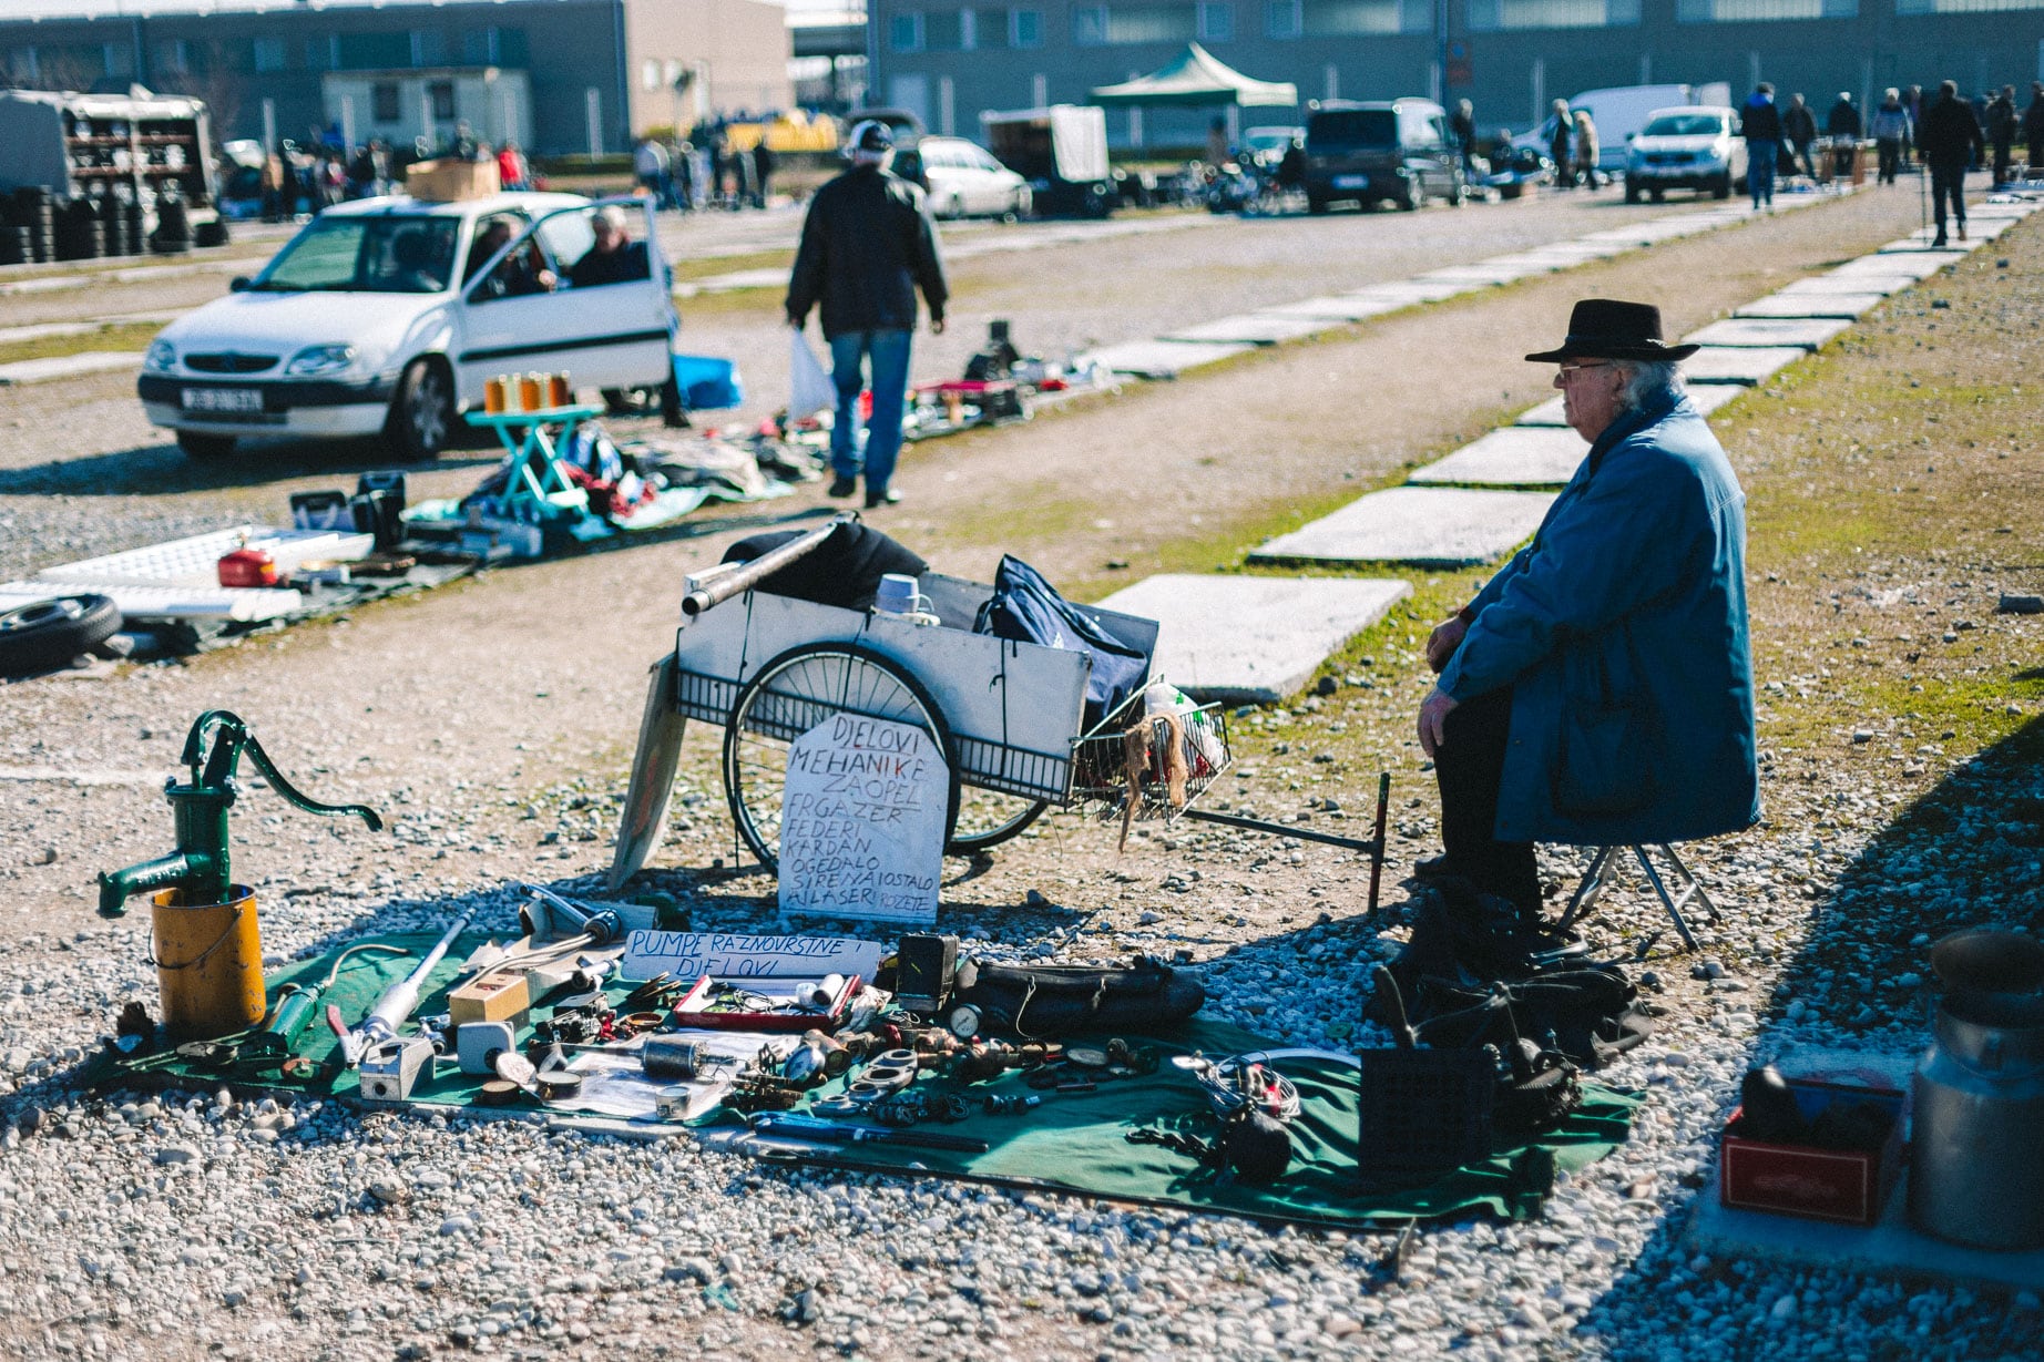
[[[243,751],[270,785],[307,814],[354,814],[370,832],[382,832],[382,818],[366,804],[321,804],[298,793],[239,716],[206,710],[184,738],[180,761],[192,769],[192,779],[164,785],[176,818],[178,849],[168,857],[100,873],[100,916],[119,918],[127,912],[129,898],[155,890],[184,890],[188,904],[221,904],[229,898],[233,875],[227,865],[227,810],[235,802],[235,765]]]

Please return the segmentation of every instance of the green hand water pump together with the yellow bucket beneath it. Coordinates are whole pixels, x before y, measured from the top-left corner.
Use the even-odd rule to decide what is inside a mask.
[[[243,751],[290,804],[309,814],[352,814],[370,832],[382,830],[372,808],[321,804],[298,793],[237,716],[227,710],[198,716],[182,757],[192,775],[164,785],[176,851],[100,875],[100,916],[119,918],[131,896],[153,894],[155,978],[164,994],[164,1029],[174,1041],[233,1035],[264,1018],[256,892],[233,883],[227,863],[227,810],[235,802],[235,767]]]

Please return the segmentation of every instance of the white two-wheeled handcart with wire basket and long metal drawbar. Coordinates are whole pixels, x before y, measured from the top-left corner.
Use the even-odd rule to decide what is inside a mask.
[[[826,526],[803,538],[820,542],[828,532]],[[732,822],[773,869],[789,744],[834,716],[852,714],[916,724],[946,755],[950,855],[995,847],[1051,806],[1083,804],[1104,820],[1186,816],[1367,851],[1376,904],[1388,777],[1380,779],[1374,841],[1196,810],[1194,800],[1233,761],[1220,706],[1179,712],[1173,726],[1147,720],[1145,697],[1136,693],[1087,728],[1087,654],[973,632],[993,587],[924,573],[920,591],[936,624],[752,589],[801,548],[797,540],[742,569],[691,579],[675,650],[652,669],[611,865],[613,890],[660,843],[687,720],[722,730]],[[1079,609],[1145,656],[1155,654],[1155,620]],[[1175,781],[1163,775],[1167,763],[1159,751],[1173,736],[1183,757]]]

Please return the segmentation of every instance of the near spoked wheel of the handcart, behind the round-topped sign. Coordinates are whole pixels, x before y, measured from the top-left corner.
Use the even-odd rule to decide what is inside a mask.
[[[950,761],[953,742],[944,716],[930,691],[897,663],[854,644],[789,648],[746,681],[724,726],[724,793],[732,804],[732,822],[766,869],[781,865],[787,751],[795,738],[838,714],[914,724]],[[950,769],[946,843],[959,816],[957,761],[950,761]]]

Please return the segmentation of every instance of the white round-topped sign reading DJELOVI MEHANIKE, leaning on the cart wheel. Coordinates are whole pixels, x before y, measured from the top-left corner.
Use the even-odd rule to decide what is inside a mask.
[[[838,714],[795,738],[781,912],[934,922],[950,767],[922,728]]]

